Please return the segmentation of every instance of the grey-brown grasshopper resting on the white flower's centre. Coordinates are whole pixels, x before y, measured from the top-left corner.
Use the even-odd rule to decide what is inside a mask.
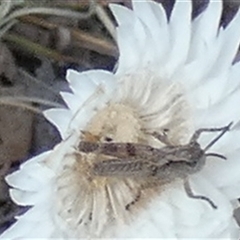
[[[154,178],[154,181],[169,183],[177,178],[184,180],[184,188],[187,195],[191,198],[207,201],[214,209],[217,206],[214,202],[200,195],[195,195],[190,187],[188,177],[191,174],[199,172],[209,156],[226,159],[223,155],[217,153],[207,153],[227,131],[229,131],[232,122],[221,128],[201,128],[195,131],[190,141],[186,145],[173,146],[167,139],[167,136],[156,132],[153,136],[167,146],[154,148],[149,145],[139,143],[123,142],[87,142],[82,141],[79,144],[79,150],[84,153],[96,152],[104,154],[112,159],[102,160],[93,165],[93,172],[98,176],[105,177],[135,177],[135,178]],[[220,132],[205,148],[201,148],[197,142],[203,132]],[[134,204],[136,200],[128,204]]]

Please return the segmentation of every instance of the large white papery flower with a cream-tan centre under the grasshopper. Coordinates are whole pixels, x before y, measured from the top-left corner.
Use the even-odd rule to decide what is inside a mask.
[[[111,10],[119,24],[117,72],[68,71],[73,93],[62,97],[69,109],[45,112],[63,140],[7,176],[12,199],[32,208],[1,239],[238,239],[240,63],[233,61],[240,12],[223,29],[222,1],[210,1],[193,21],[191,1],[177,0],[169,21],[153,1],[133,1],[133,11],[119,5]],[[95,176],[91,167],[99,156],[78,151],[81,140],[108,138],[161,147],[149,133],[164,129],[174,145],[187,144],[197,129],[231,121],[234,126],[211,148],[227,160],[208,157],[189,177],[192,191],[217,209],[189,198],[181,179],[145,189],[146,179]],[[214,136],[203,134],[202,148]]]

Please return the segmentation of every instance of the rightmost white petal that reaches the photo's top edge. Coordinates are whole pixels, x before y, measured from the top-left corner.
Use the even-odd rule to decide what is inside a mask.
[[[208,7],[192,24],[192,38],[187,64],[177,73],[176,79],[188,82],[194,89],[213,68],[222,47],[223,38],[218,37],[218,25],[222,13],[222,1],[211,0]],[[215,71],[219,72],[219,71]],[[213,76],[211,76],[213,77]],[[216,77],[216,76],[215,76]]]

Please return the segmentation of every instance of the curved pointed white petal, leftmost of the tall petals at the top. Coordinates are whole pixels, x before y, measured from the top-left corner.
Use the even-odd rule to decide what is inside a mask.
[[[147,28],[131,10],[114,4],[110,9],[120,26],[117,28],[120,52],[117,74],[135,72],[152,54]]]

